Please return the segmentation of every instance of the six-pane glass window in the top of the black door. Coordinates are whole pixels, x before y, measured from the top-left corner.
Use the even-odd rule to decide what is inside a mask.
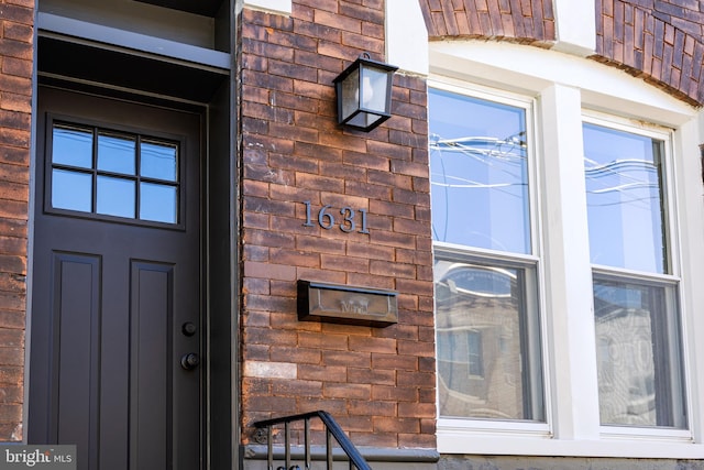
[[[177,143],[67,123],[52,136],[52,208],[179,222]]]

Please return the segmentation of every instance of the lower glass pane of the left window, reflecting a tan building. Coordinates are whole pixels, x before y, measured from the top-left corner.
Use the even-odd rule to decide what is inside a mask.
[[[435,263],[440,415],[543,420],[532,267]]]

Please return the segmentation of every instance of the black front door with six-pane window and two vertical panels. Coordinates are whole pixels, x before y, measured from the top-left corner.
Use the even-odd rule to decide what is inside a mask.
[[[29,441],[199,469],[199,113],[40,87]]]

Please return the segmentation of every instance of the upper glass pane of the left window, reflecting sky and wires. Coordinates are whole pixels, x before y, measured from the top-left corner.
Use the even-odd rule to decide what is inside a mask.
[[[526,111],[431,89],[437,241],[530,253]]]

